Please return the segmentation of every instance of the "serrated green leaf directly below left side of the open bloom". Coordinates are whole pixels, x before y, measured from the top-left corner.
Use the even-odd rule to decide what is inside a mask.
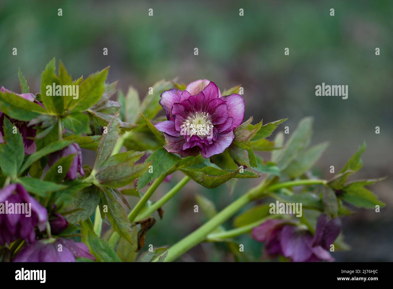
[[[157,179],[163,174],[167,173],[173,166],[180,161],[180,156],[174,153],[167,152],[164,148],[157,149],[154,151],[145,162],[151,162],[152,173],[147,171],[138,180],[137,190],[140,190],[146,186],[149,182]]]

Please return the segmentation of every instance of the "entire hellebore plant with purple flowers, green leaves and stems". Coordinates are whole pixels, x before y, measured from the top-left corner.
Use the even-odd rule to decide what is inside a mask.
[[[365,188],[383,178],[348,180],[362,167],[365,144],[332,179],[310,173],[327,147],[309,147],[312,118],[301,120],[286,142],[282,132],[267,140],[286,119],[244,121],[240,86],[221,91],[207,79],[162,80],[143,101],[132,87],[115,101],[117,82],[106,83],[107,74],[105,68],[73,79],[61,62],[56,74],[52,59],[37,94],[20,71],[21,94],[1,88],[0,260],[175,261],[201,242],[225,242],[241,261],[250,259],[233,249],[236,237],[251,233],[264,243],[264,260],[332,261],[334,249],[348,249],[340,218],[354,212],[346,204],[384,206]],[[46,87],[54,84],[79,96],[53,95]],[[83,165],[83,149],[95,151],[93,166]],[[270,151],[270,160],[255,151]],[[152,202],[176,171],[184,177]],[[262,175],[220,212],[197,195],[209,221],[169,248],[154,244],[141,253],[149,229],[160,226],[155,213],[165,218],[162,207],[190,180],[208,189],[226,183],[232,191],[238,179]],[[133,208],[126,196],[138,199]],[[301,203],[304,210],[299,218],[271,214],[264,198]],[[238,214],[254,201],[259,204]],[[224,229],[231,218],[233,228]],[[110,224],[106,232],[103,221]]]

